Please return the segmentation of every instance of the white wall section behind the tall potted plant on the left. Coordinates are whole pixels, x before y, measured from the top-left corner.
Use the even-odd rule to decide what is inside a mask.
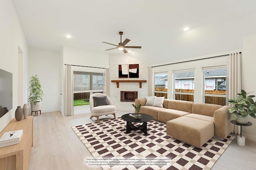
[[[28,76],[37,74],[44,93],[41,112],[58,111],[60,53],[29,47],[28,58]]]

